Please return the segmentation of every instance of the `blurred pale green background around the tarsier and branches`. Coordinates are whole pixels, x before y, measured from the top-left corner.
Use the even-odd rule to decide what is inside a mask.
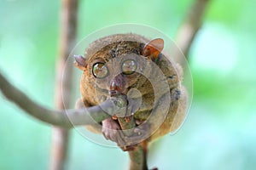
[[[175,37],[192,0],[80,1],[79,37],[138,23]],[[180,131],[149,150],[159,169],[256,168],[256,1],[212,0],[189,52],[194,99]],[[53,107],[59,1],[0,1],[0,70],[16,87]],[[0,169],[47,169],[51,127],[0,95]],[[128,156],[72,131],[68,169],[125,169]]]

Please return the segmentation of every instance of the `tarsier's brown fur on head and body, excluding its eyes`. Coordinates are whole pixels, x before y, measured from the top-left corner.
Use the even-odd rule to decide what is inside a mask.
[[[161,41],[159,42],[161,43]],[[166,133],[176,131],[183,123],[187,108],[187,93],[181,85],[183,79],[182,68],[175,62],[171,62],[170,59],[167,59],[167,57],[172,58],[172,56],[165,56],[160,53],[163,44],[160,44],[162,48],[158,48],[156,43],[157,41],[150,42],[147,38],[136,34],[112,35],[92,42],[84,54],[85,59],[77,59],[77,66],[84,71],[80,82],[82,99],[78,102],[79,107],[99,105],[107,99],[109,97],[110,83],[117,75],[121,75],[119,76],[121,80],[117,80],[120,87],[115,88],[121,94],[127,94],[131,88],[137,88],[142,95],[143,103],[133,115],[137,126],[148,121],[148,116],[155,107],[154,121],[148,121],[149,126],[147,126],[147,129],[143,129],[150,133],[150,137],[143,141],[144,145]],[[147,46],[149,51],[145,51]],[[141,57],[142,60],[140,58],[136,59],[138,63],[137,69],[140,69],[143,74],[135,72],[130,76],[122,76],[119,71],[115,71],[119,70],[119,61],[122,58],[127,58],[127,56],[132,58],[132,55]],[[104,78],[104,80],[97,79],[91,72],[92,66],[98,61],[108,63],[110,75]],[[153,63],[160,68],[160,71],[165,76],[165,80],[159,76],[160,71],[152,69],[153,67],[150,65],[153,65]],[[152,83],[150,80],[154,80],[157,83]],[[167,87],[163,81],[167,82]],[[164,96],[167,96],[167,98],[164,98]],[[134,97],[136,98],[136,96]],[[166,99],[171,99],[171,103],[168,103]],[[158,104],[169,106],[166,115],[163,115],[163,109],[161,107],[158,108]],[[158,122],[160,122],[160,127],[154,127],[153,124],[158,124]],[[106,128],[121,129],[119,123],[114,121],[112,117],[103,121],[102,124],[87,128],[95,133],[103,133],[107,139],[119,143],[115,137],[118,134],[108,132],[108,129],[106,130]]]

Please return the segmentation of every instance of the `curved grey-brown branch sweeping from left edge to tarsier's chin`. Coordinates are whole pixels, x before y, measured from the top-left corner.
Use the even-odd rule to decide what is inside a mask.
[[[102,120],[109,117],[108,113],[118,112],[118,110],[121,107],[124,107],[127,103],[125,97],[119,96],[117,98],[107,99],[101,105],[96,105],[90,108],[67,111],[50,110],[42,105],[38,105],[18,88],[15,88],[5,77],[3,77],[1,72],[0,90],[7,99],[14,102],[15,105],[18,105],[23,111],[26,111],[28,115],[51,125],[65,128],[102,122]],[[116,105],[117,103],[119,105]]]

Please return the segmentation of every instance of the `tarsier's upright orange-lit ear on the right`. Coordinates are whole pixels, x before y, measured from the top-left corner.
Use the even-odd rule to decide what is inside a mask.
[[[150,59],[156,59],[164,48],[164,40],[156,38],[145,44],[143,47],[143,56]]]

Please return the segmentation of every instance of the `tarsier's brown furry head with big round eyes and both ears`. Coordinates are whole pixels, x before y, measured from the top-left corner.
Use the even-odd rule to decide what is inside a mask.
[[[90,86],[84,91],[94,88],[99,94],[127,94],[130,88],[143,84],[150,63],[158,59],[163,48],[162,39],[148,40],[136,34],[118,34],[92,42],[84,57],[74,56],[75,65],[84,71],[82,83]]]

